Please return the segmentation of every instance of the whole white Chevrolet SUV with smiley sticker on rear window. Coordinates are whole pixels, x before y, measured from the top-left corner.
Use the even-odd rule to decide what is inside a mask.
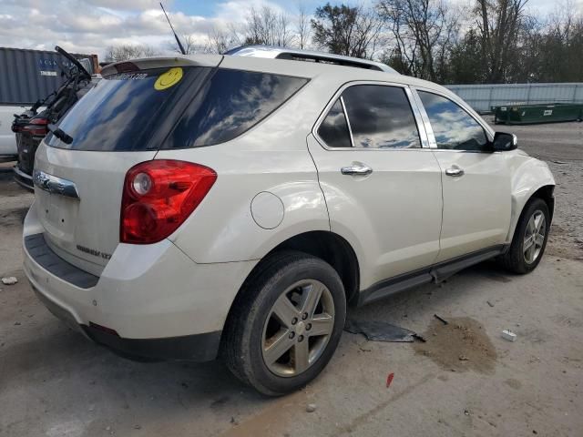
[[[104,68],[36,153],[23,244],[46,306],[118,353],[221,355],[279,395],[331,359],[347,304],[537,266],[544,162],[442,86],[309,60]]]

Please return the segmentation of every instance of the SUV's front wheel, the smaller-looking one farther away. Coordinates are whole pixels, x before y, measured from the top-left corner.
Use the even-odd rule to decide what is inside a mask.
[[[547,203],[531,198],[518,219],[510,249],[499,259],[502,267],[518,274],[536,269],[547,247],[549,228]]]

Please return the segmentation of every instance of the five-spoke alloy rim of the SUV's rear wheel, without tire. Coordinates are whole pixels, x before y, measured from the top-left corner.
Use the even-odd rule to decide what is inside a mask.
[[[334,328],[332,293],[322,282],[296,282],[275,301],[263,326],[263,361],[274,374],[292,377],[320,358]]]

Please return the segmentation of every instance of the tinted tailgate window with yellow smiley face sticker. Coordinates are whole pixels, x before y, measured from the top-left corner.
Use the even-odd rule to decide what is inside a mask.
[[[169,68],[140,70],[107,76],[81,98],[59,127],[73,137],[66,144],[54,136],[49,146],[76,150],[143,150],[159,123],[168,117],[189,85],[200,82],[210,68],[173,68],[179,79],[171,86],[157,86]],[[164,79],[163,76],[161,79]],[[176,116],[175,116],[176,117]]]

